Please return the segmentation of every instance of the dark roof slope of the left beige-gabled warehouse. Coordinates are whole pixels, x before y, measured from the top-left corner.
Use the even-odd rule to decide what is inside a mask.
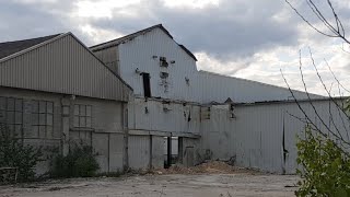
[[[8,57],[10,55],[13,55],[15,53],[19,53],[21,50],[27,49],[30,47],[33,47],[35,45],[38,45],[40,43],[44,43],[46,40],[49,40],[61,34],[55,34],[55,35],[37,37],[32,39],[0,43],[0,59]]]

